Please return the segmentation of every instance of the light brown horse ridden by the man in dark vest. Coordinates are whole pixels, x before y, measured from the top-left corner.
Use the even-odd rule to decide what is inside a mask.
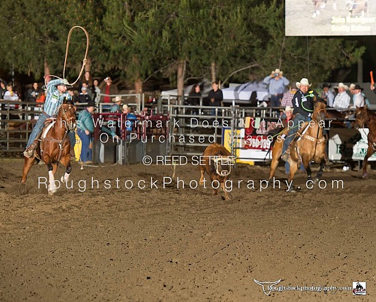
[[[314,102],[312,121],[306,122],[304,125],[299,125],[301,129],[297,132],[295,140],[291,142],[291,156],[288,158],[288,163],[290,164],[290,174],[288,175],[288,184],[290,184],[289,191],[294,190],[293,179],[300,162],[304,165],[304,168],[306,168],[308,180],[312,181],[312,171],[310,169],[310,162],[312,160],[320,164],[320,169],[316,175],[315,181],[319,181],[320,177],[323,175],[323,168],[327,160],[325,153],[326,138],[323,135],[325,113],[326,105],[322,99],[318,99]],[[296,127],[296,125],[294,126]],[[273,144],[269,181],[272,180],[274,173],[276,173],[276,168],[282,155],[284,140],[281,136],[287,132],[288,129],[282,129]]]

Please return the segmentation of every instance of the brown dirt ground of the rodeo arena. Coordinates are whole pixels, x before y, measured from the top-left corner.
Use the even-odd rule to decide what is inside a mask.
[[[375,171],[332,168],[312,190],[299,173],[292,194],[260,190],[268,168],[241,164],[224,201],[189,188],[200,177],[191,165],[176,171],[185,188],[163,188],[171,166],[74,164],[73,188],[49,197],[38,188],[46,166],[21,185],[23,160],[0,164],[0,301],[376,301]],[[254,279],[284,290],[267,296]],[[355,281],[366,296],[353,296]]]

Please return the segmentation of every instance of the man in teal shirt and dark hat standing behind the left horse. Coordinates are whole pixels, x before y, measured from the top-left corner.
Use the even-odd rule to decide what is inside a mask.
[[[77,130],[77,135],[81,138],[82,147],[81,147],[81,162],[83,164],[92,163],[92,149],[90,148],[90,140],[92,133],[94,131],[94,123],[92,114],[95,110],[94,101],[90,100],[85,109],[79,112],[78,121],[80,122],[80,127]]]

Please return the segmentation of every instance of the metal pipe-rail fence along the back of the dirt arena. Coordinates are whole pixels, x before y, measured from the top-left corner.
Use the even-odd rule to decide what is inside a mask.
[[[135,97],[135,95],[131,96]],[[85,103],[81,103],[79,108],[84,108],[85,105]],[[14,153],[21,155],[33,125],[36,123],[36,118],[43,110],[43,104],[24,101],[0,101],[0,108],[0,153],[1,155],[14,155]],[[140,115],[146,113],[143,111],[142,105],[138,108]],[[213,142],[221,144],[224,138],[224,130],[230,131],[232,155],[237,154],[237,149],[242,148],[239,144],[239,130],[245,128],[246,118],[258,118],[259,121],[265,121],[266,124],[273,123],[278,121],[279,112],[282,109],[246,108],[238,105],[230,107],[176,105],[170,101],[167,104],[159,103],[158,108],[159,110],[154,107],[152,112],[158,111],[159,114],[153,115],[150,113],[150,116],[144,116],[144,119],[152,119],[152,127],[137,127],[140,136],[142,138],[155,136],[156,140],[163,138],[163,143],[166,143],[167,154],[189,156],[202,154],[204,149]],[[97,112],[99,114],[108,110],[109,103],[98,103]],[[333,109],[328,109],[328,111],[331,110]],[[163,124],[163,131],[157,128],[156,122],[159,119],[163,119],[163,123],[167,123],[167,125]],[[330,120],[343,124],[353,121],[353,118],[334,117]],[[267,127],[264,128],[258,130],[260,135],[266,134]],[[122,136],[126,136],[123,132]]]

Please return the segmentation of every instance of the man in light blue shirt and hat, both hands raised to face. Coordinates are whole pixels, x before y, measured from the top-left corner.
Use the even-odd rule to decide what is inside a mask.
[[[284,89],[290,81],[283,76],[283,71],[277,68],[271,72],[271,75],[265,77],[263,82],[269,85],[270,107],[280,107]]]

